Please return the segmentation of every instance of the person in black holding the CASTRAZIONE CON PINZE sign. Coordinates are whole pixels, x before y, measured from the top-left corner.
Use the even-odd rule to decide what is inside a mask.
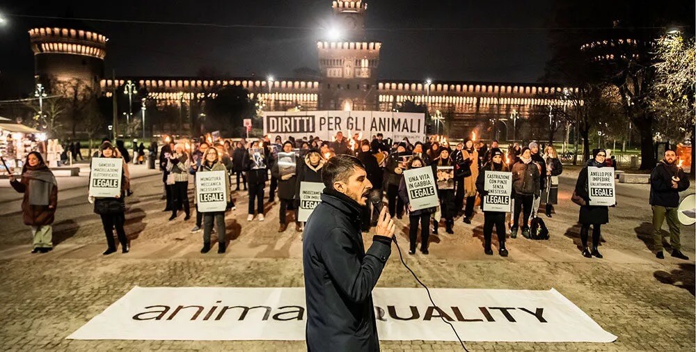
[[[488,194],[488,191],[486,191],[484,187],[486,171],[507,173],[510,170],[507,164],[503,163],[503,151],[499,148],[491,148],[489,152],[491,161],[481,168],[481,173],[479,173],[476,179],[476,189],[482,196]],[[483,209],[483,203],[484,202],[481,202],[481,209]],[[498,234],[498,254],[500,257],[507,257],[507,248],[505,248],[505,211],[484,211],[483,218],[484,253],[486,253],[486,255],[493,255],[491,237],[493,235],[493,226],[495,226],[496,233]]]

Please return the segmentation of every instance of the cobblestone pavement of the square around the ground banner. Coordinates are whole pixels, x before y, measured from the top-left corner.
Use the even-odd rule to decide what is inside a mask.
[[[432,237],[430,255],[407,256],[429,287],[549,289],[554,287],[600,326],[618,336],[611,344],[468,342],[470,351],[694,351],[693,260],[651,246],[647,185],[617,186],[619,206],[603,227],[605,259],[579,253],[578,207],[569,202],[577,170],[561,177],[560,202],[545,219],[549,241],[508,240],[510,257],[482,250],[483,216],[471,225],[458,219],[455,234]],[[246,192],[228,214],[228,253],[201,255],[201,233],[189,234],[193,219],[168,222],[158,176],[134,179],[127,198],[127,233],[132,251],[104,257],[99,217],[86,202],[86,189],[59,194],[51,253],[31,255],[29,229],[19,200],[0,204],[0,349],[3,351],[301,351],[303,342],[78,341],[65,339],[135,285],[299,287],[303,285],[301,234],[278,233],[278,203],[267,205],[264,222],[246,222]],[[11,199],[0,189],[0,199]],[[693,193],[693,189],[691,190]],[[406,219],[404,218],[404,221]],[[401,221],[402,229],[406,223]],[[666,229],[665,225],[665,229]],[[407,234],[400,233],[407,246]],[[370,236],[365,236],[367,242]],[[683,250],[694,257],[694,227],[682,227]],[[369,243],[367,243],[369,245]],[[396,248],[393,248],[394,250]],[[418,287],[393,253],[380,287]],[[443,328],[448,328],[444,326]],[[381,342],[383,351],[459,351],[453,342]]]

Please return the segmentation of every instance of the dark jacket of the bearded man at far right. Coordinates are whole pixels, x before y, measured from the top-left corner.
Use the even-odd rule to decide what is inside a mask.
[[[677,188],[672,188],[672,177],[679,177]],[[689,177],[676,164],[660,161],[650,174],[650,205],[679,207],[679,192],[689,188]]]

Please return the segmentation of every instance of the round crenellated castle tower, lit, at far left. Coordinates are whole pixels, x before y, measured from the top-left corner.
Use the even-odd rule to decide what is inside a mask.
[[[45,86],[73,85],[76,81],[99,88],[104,76],[104,35],[79,22],[62,22],[29,30],[34,72]]]

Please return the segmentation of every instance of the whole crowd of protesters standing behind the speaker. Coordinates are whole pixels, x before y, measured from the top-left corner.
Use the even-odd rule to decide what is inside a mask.
[[[66,149],[79,152],[79,143]],[[340,131],[333,136],[332,141],[322,141],[314,136],[308,139],[290,137],[287,141],[283,141],[280,136],[276,136],[273,141],[269,136],[264,136],[255,141],[242,139],[216,143],[203,136],[198,141],[186,142],[175,142],[167,138],[161,150],[157,142],[151,143],[148,147],[150,157],[157,157],[158,153],[164,189],[162,199],[166,200],[164,211],[171,212],[169,221],[176,221],[179,211],[184,211],[183,221],[189,221],[191,211],[196,210],[196,221],[191,233],[203,230],[201,253],[207,253],[211,249],[211,238],[215,232],[218,234],[218,253],[225,253],[225,216],[227,211],[236,209],[233,202],[235,192],[248,193],[247,221],[264,221],[266,205],[273,203],[277,195],[278,232],[285,232],[292,223],[296,232],[302,232],[303,222],[299,218],[302,182],[322,182],[322,168],[326,161],[335,155],[347,154],[356,157],[362,163],[366,177],[372,184],[366,206],[361,211],[361,230],[367,232],[370,227],[376,225],[384,204],[383,199],[386,198],[385,206],[390,217],[402,219],[406,214],[409,218],[411,255],[416,253],[419,233],[420,252],[427,255],[429,237],[431,234],[438,234],[440,223],[443,223],[448,234],[455,233],[454,219],[459,216],[461,222],[471,224],[475,208],[477,205],[483,208],[482,196],[487,195],[484,187],[484,175],[487,171],[512,173],[509,223],[506,222],[506,212],[482,211],[484,253],[493,254],[492,234],[495,228],[498,253],[507,257],[509,251],[505,243],[508,234],[510,239],[515,239],[521,229],[523,237],[532,238],[532,220],[541,212],[547,218],[552,217],[553,205],[558,201],[558,177],[563,173],[562,163],[553,145],[542,148],[536,142],[528,145],[513,143],[505,152],[498,145],[498,141],[493,141],[489,146],[482,141],[466,139],[462,143],[450,146],[446,138],[432,136],[425,143],[418,141],[411,144],[407,138],[399,142],[388,141],[382,134],[372,136],[371,140],[361,139],[358,134],[349,139]],[[116,145],[113,145],[105,139],[94,156],[123,160],[120,195],[113,198],[90,198],[90,202],[94,203],[94,211],[100,215],[104,225],[107,243],[104,255],[116,251],[114,232],[122,252],[127,253],[129,243],[124,230],[125,198],[132,194],[128,164],[145,162],[145,145],[134,141],[131,154],[122,141],[116,141]],[[79,157],[79,154],[76,157]],[[650,204],[653,209],[654,241],[656,257],[661,259],[664,257],[661,226],[665,219],[670,228],[672,256],[688,259],[681,253],[677,206],[679,191],[688,189],[689,181],[676,162],[674,151],[667,150],[665,158],[658,163],[651,175]],[[612,167],[608,152],[603,149],[592,151],[592,158],[580,170],[571,198],[580,205],[578,222],[581,254],[585,257],[601,258],[603,255],[599,253],[598,246],[601,225],[609,222],[608,207],[590,205],[587,177],[589,166]],[[406,191],[404,170],[425,167],[432,168],[438,184],[438,205],[413,210],[409,193]],[[443,176],[444,174],[441,175],[439,172],[442,168],[451,168],[454,172],[449,176]],[[195,179],[200,173],[210,171],[226,171],[228,175],[226,211],[198,211],[195,196],[191,209],[189,189],[193,188],[195,192],[195,186],[189,186],[189,177],[193,177],[195,185]],[[10,181],[15,190],[24,193],[22,210],[24,223],[31,226],[34,236],[32,253],[51,250],[51,224],[57,207],[57,183],[41,155],[36,152],[30,153],[24,164],[21,179],[11,177]],[[590,227],[591,247],[587,243]]]

